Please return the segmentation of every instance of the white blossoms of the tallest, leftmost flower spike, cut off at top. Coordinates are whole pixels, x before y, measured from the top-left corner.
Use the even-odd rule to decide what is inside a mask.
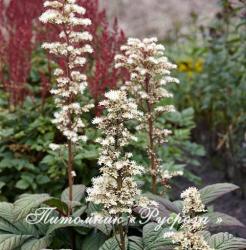
[[[54,114],[53,122],[69,141],[75,143],[86,140],[85,136],[80,135],[85,126],[81,114],[93,107],[92,104],[81,107],[76,101],[87,87],[86,75],[80,72],[86,63],[83,55],[93,52],[87,44],[92,40],[91,34],[78,30],[81,30],[81,26],[90,25],[91,20],[81,17],[85,14],[85,9],[77,5],[76,0],[45,1],[44,6],[47,9],[41,15],[40,21],[60,25],[61,32],[59,41],[44,43],[42,47],[66,62],[66,68],[58,68],[54,72],[57,87],[51,93],[55,96],[59,110]],[[82,47],[79,46],[81,42]]]

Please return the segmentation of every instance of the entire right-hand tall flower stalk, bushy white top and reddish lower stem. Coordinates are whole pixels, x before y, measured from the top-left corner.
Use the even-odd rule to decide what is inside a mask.
[[[129,38],[121,47],[122,54],[115,57],[116,68],[126,68],[130,73],[130,81],[124,88],[133,96],[144,113],[139,126],[148,135],[148,157],[152,176],[152,192],[157,193],[158,175],[171,178],[177,173],[161,173],[161,160],[158,147],[167,141],[171,133],[168,129],[158,126],[158,118],[163,113],[175,111],[172,105],[162,105],[161,101],[173,95],[166,89],[170,82],[178,83],[178,79],[170,76],[176,65],[169,62],[164,55],[164,46],[157,44],[156,38],[145,38],[142,41]]]

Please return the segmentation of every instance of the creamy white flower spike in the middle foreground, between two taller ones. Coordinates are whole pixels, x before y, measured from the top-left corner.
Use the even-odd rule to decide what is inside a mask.
[[[94,124],[102,130],[104,138],[99,139],[102,151],[99,164],[101,176],[93,179],[93,187],[88,188],[88,201],[103,204],[105,212],[111,215],[131,214],[134,205],[147,206],[148,200],[141,197],[134,180],[143,172],[143,167],[131,160],[132,154],[125,153],[123,147],[134,139],[126,128],[126,122],[141,119],[137,105],[127,98],[122,90],[111,90],[100,102],[107,115],[97,117]]]

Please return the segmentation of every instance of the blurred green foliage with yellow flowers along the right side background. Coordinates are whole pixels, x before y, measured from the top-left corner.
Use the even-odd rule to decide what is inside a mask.
[[[196,141],[245,191],[245,5],[219,2],[221,10],[208,27],[198,29],[195,22],[193,35],[175,41],[181,84],[174,92],[178,107],[194,109]]]

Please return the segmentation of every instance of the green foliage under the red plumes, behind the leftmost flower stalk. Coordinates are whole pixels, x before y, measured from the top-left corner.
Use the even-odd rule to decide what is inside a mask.
[[[59,194],[66,185],[67,152],[49,148],[51,143],[64,140],[51,123],[53,101],[47,99],[42,103],[39,99],[27,98],[23,106],[13,109],[1,94],[0,199],[14,200],[23,191]],[[85,120],[88,124],[90,117]],[[88,142],[78,146],[75,156],[78,181],[85,184],[97,173],[98,155],[98,146],[94,143],[96,130],[91,127],[86,135]]]

